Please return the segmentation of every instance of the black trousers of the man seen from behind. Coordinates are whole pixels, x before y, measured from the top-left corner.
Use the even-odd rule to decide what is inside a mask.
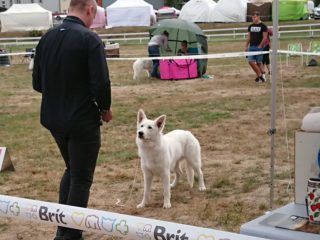
[[[51,134],[66,165],[60,182],[59,203],[86,208],[101,146],[100,126],[91,126],[76,133]],[[76,240],[81,238],[82,231],[58,227],[57,236]]]

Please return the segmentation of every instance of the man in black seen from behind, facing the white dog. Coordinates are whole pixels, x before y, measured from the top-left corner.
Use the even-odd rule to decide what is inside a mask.
[[[89,30],[95,0],[71,0],[63,23],[40,40],[33,88],[42,93],[41,124],[65,162],[59,203],[86,208],[101,145],[100,125],[112,119],[111,86],[102,41]],[[59,226],[55,240],[80,240],[82,231]]]

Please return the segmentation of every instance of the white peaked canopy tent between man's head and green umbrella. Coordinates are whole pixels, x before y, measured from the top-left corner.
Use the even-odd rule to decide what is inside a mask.
[[[107,7],[109,27],[150,26],[155,20],[153,6],[143,0],[117,0]]]

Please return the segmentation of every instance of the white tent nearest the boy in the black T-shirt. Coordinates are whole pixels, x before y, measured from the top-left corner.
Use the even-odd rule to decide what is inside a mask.
[[[245,22],[247,0],[220,0],[213,10],[213,22]]]

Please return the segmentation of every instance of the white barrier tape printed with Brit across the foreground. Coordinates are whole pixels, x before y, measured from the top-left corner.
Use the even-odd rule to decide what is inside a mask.
[[[170,210],[167,210],[168,212]],[[135,240],[262,240],[155,219],[0,195],[0,216]],[[192,216],[190,216],[192,217]]]

